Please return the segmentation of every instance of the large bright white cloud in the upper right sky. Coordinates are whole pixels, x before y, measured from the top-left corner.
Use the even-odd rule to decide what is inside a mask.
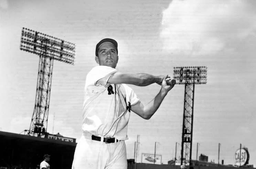
[[[255,28],[256,14],[242,0],[173,0],[163,11],[163,49],[180,54],[214,54]],[[230,48],[230,46],[228,47]]]

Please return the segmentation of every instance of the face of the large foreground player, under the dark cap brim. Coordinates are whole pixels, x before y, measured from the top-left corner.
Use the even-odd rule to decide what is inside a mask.
[[[116,48],[112,43],[103,43],[98,49],[98,56],[95,56],[96,62],[100,66],[116,67],[118,56]]]

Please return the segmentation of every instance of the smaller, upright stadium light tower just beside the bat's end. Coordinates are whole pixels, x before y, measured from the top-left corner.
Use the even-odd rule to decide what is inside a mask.
[[[207,67],[174,67],[176,84],[185,84],[181,165],[191,165],[195,84],[206,84]],[[184,163],[183,163],[184,162]]]

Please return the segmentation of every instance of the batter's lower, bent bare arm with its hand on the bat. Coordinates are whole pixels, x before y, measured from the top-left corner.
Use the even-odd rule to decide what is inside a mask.
[[[131,110],[144,119],[150,119],[157,111],[160,104],[167,93],[174,87],[173,85],[167,85],[167,81],[171,80],[168,75],[162,81],[162,88],[160,92],[150,101],[147,105],[143,105],[141,102],[131,107]]]

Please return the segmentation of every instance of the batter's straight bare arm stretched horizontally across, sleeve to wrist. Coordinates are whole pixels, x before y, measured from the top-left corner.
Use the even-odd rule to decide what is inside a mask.
[[[126,74],[117,72],[111,75],[108,79],[108,83],[112,84],[134,84],[136,86],[148,86],[152,83],[158,83],[161,85],[164,75],[153,76],[145,73],[139,74]]]

